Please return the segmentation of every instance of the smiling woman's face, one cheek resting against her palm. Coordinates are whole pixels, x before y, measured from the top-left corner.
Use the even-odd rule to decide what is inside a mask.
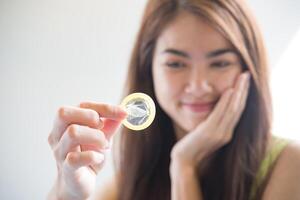
[[[155,95],[177,132],[185,134],[205,120],[241,72],[231,44],[190,13],[180,13],[157,40],[152,66]]]

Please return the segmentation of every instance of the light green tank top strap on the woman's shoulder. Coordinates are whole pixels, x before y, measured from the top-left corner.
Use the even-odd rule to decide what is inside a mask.
[[[269,170],[276,162],[280,153],[289,143],[288,139],[279,138],[277,136],[272,136],[273,143],[270,149],[267,151],[266,157],[261,162],[258,173],[256,175],[256,179],[251,188],[250,200],[254,200],[257,188],[263,183],[264,179],[268,175]]]

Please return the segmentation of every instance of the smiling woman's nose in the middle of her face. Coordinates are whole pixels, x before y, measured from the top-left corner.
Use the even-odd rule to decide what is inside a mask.
[[[202,96],[213,91],[209,76],[201,72],[192,72],[188,77],[185,92],[194,96]]]

